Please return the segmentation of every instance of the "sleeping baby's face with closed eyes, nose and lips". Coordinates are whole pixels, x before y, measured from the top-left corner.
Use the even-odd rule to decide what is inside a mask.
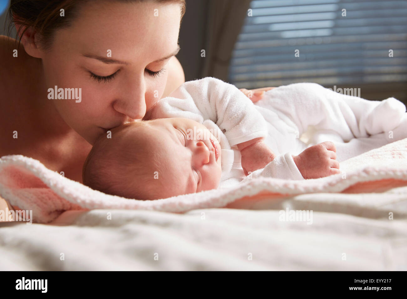
[[[221,146],[213,132],[187,118],[156,119],[139,134],[158,160],[161,198],[215,189],[221,179]],[[153,180],[154,183],[155,180]]]

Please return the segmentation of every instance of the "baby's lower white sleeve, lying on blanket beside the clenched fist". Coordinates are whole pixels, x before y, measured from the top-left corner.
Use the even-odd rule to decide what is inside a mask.
[[[243,181],[257,177],[273,177],[276,179],[303,180],[300,170],[295,165],[291,153],[279,155],[265,168],[250,173]]]

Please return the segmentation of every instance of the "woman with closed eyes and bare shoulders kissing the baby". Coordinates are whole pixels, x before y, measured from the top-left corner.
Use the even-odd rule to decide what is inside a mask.
[[[184,11],[184,0],[12,0],[21,44],[0,36],[0,156],[33,157],[81,182],[98,136],[184,83]]]

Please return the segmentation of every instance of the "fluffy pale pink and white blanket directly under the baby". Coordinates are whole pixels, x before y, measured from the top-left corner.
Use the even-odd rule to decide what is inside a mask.
[[[67,210],[141,209],[182,213],[194,209],[252,208],[258,201],[313,192],[374,192],[407,185],[407,138],[341,162],[342,173],[301,181],[260,177],[225,189],[139,201],[92,190],[47,169],[35,159],[9,155],[0,159],[0,196],[33,221],[48,223]]]

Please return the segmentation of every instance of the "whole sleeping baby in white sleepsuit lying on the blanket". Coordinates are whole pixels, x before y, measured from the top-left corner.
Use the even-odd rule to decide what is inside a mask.
[[[380,134],[403,131],[397,125],[405,114],[396,99],[368,101],[315,83],[269,90],[254,105],[219,79],[188,81],[159,100],[147,121],[114,128],[112,138],[100,137],[83,166],[83,183],[148,200],[260,176],[325,177],[339,173],[337,154],[343,161],[396,141]],[[306,144],[300,137],[308,127],[317,133]]]

